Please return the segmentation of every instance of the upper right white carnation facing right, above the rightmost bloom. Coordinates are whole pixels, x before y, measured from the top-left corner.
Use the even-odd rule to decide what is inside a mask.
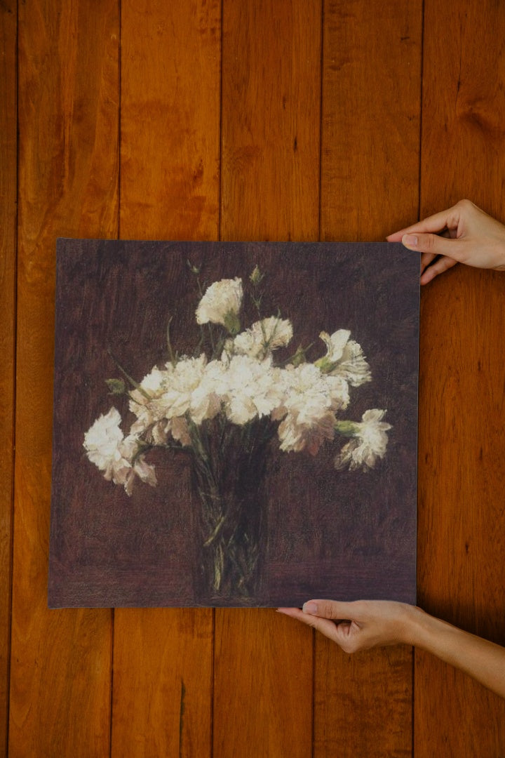
[[[326,344],[326,356],[316,361],[321,371],[333,376],[340,376],[353,387],[359,387],[372,380],[370,367],[366,362],[361,346],[350,340],[348,329],[339,329],[333,334],[321,332],[320,338]]]

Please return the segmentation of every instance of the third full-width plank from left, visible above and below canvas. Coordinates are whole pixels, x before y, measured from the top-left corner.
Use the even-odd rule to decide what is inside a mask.
[[[316,240],[319,3],[223,3],[221,238]],[[214,755],[310,756],[312,634],[217,610]]]

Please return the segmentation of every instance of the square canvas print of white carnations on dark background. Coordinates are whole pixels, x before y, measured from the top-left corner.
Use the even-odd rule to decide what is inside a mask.
[[[57,258],[50,606],[415,601],[416,256]]]

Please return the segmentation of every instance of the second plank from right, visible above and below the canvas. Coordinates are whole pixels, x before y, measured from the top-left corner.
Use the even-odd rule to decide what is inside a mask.
[[[420,2],[326,2],[322,240],[383,239],[416,218],[421,32]],[[315,756],[410,755],[409,649],[351,657],[316,636],[315,665]]]

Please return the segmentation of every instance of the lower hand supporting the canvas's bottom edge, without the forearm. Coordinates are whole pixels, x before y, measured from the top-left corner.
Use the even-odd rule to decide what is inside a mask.
[[[309,600],[303,609],[279,608],[336,642],[345,653],[371,647],[413,644],[414,620],[424,611],[394,600]]]

